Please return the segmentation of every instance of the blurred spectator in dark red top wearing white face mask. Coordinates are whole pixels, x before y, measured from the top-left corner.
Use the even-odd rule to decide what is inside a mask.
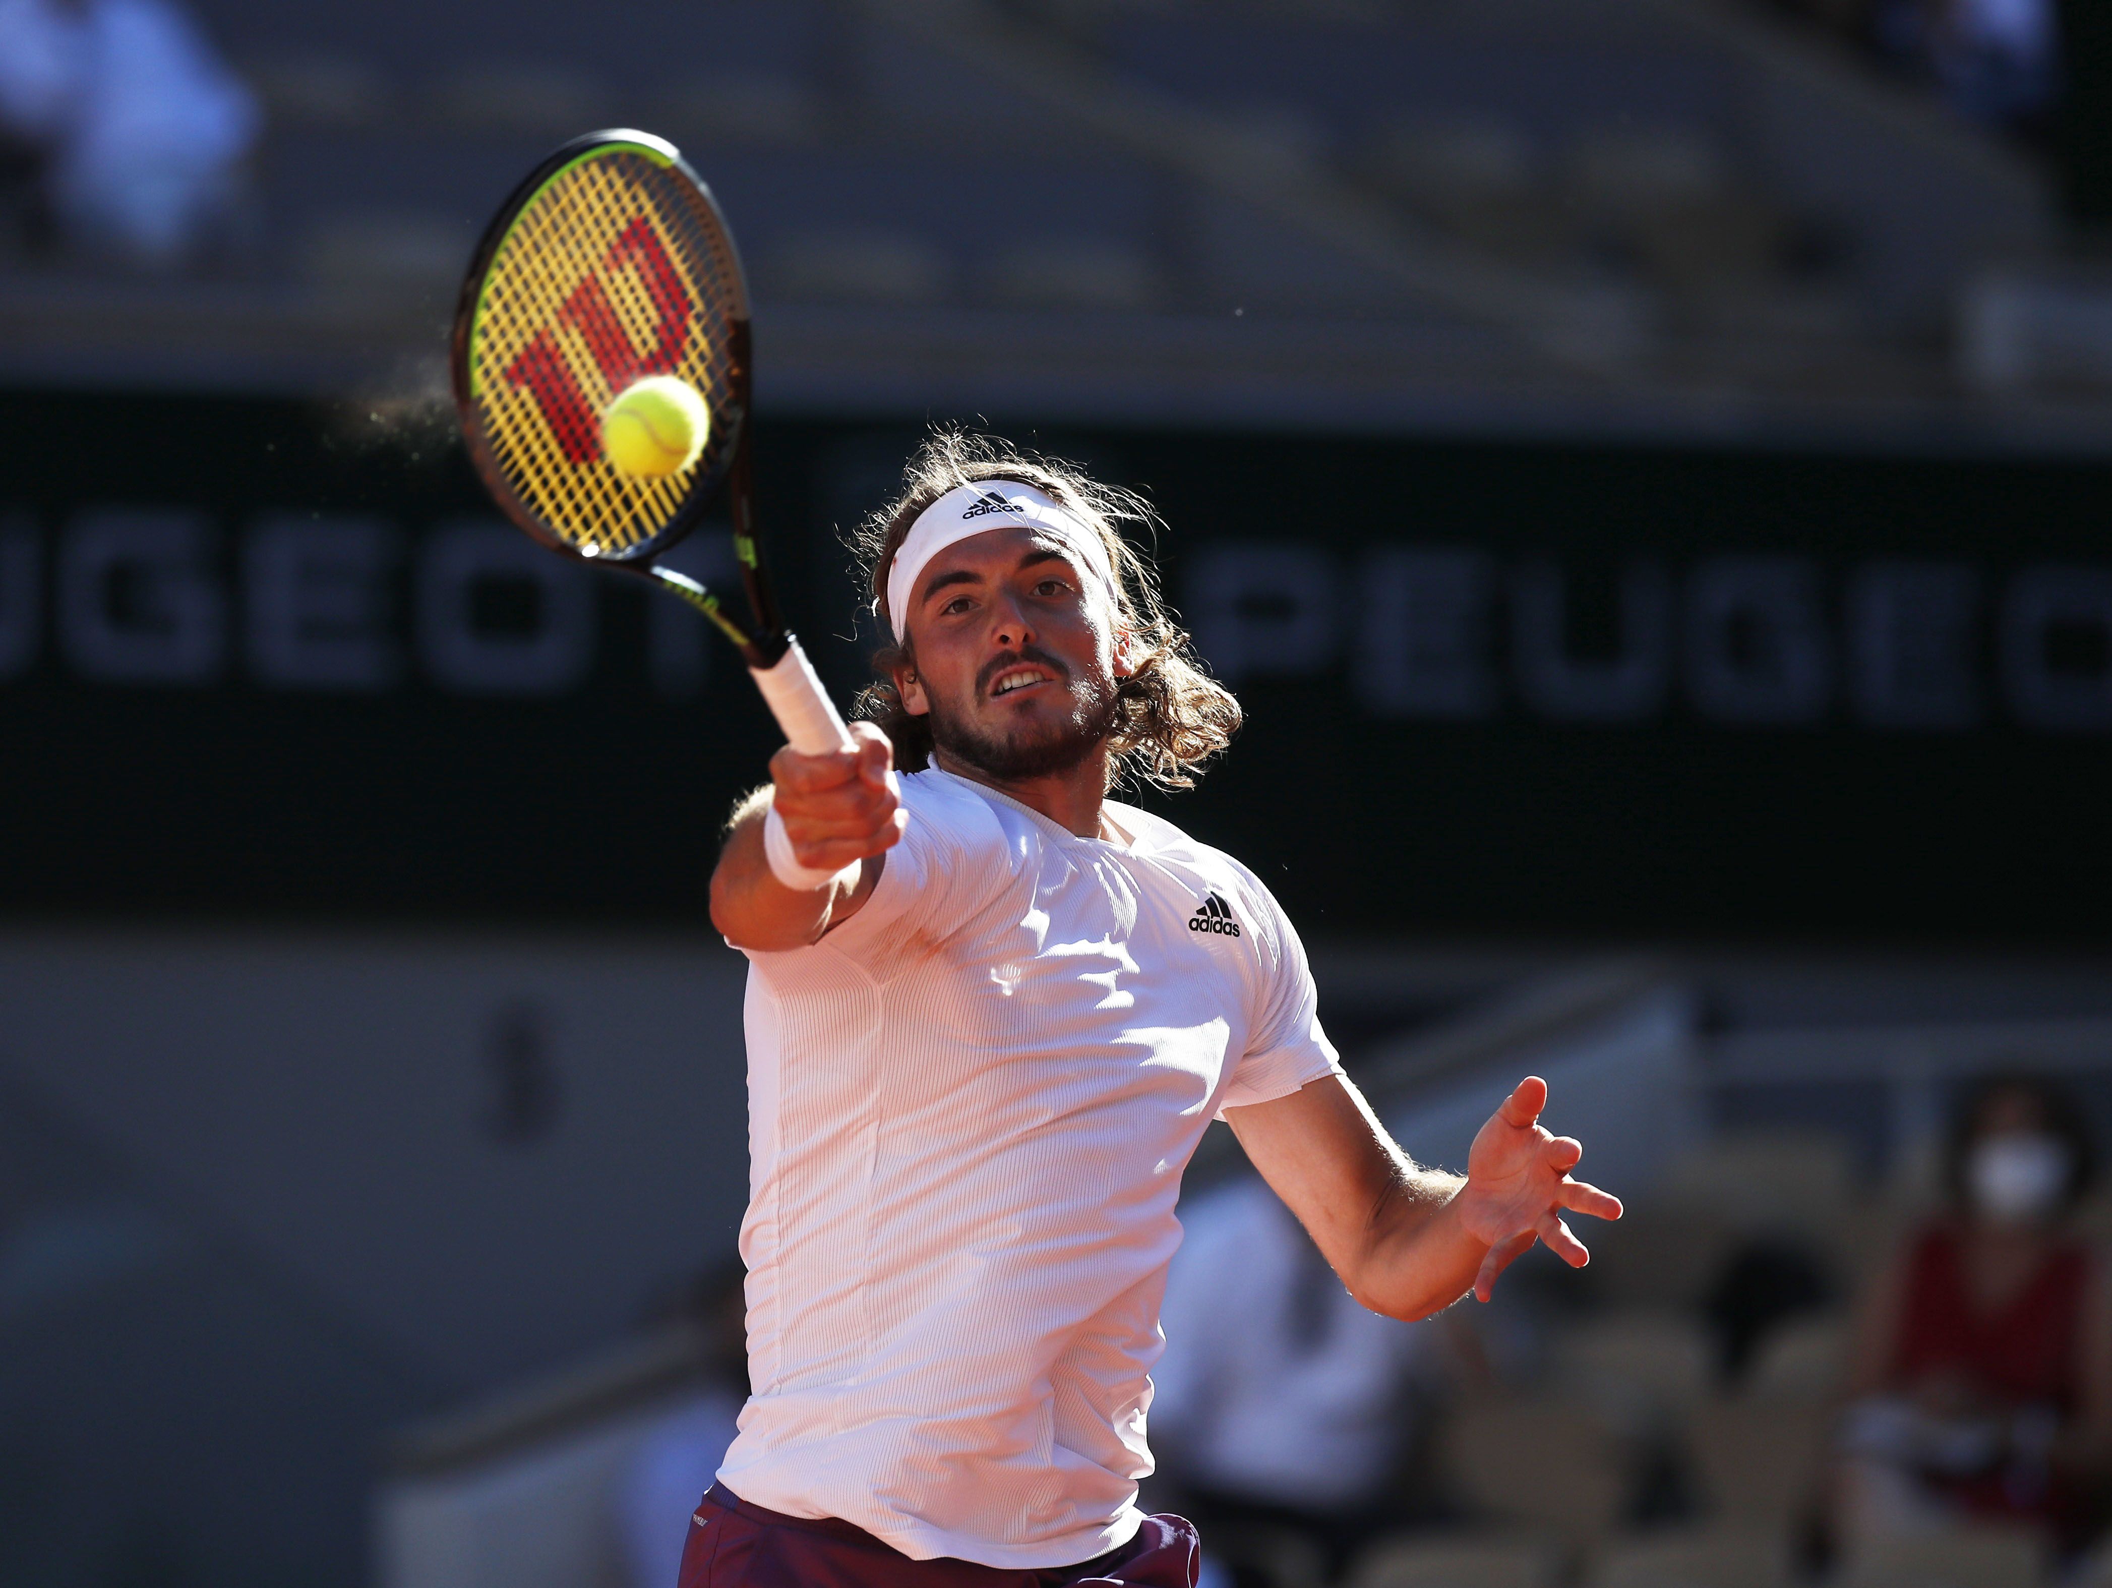
[[[1949,1520],[2074,1539],[2112,1455],[2112,1280],[2070,1229],[2089,1185],[2080,1107],[2000,1079],[1962,1111],[1949,1206],[1916,1231],[1859,1328],[1842,1444],[1850,1539]]]

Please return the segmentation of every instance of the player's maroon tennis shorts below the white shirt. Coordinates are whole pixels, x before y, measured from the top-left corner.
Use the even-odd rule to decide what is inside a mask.
[[[1195,1588],[1200,1565],[1181,1516],[1147,1516],[1119,1550],[1075,1567],[1012,1571],[910,1561],[851,1523],[779,1516],[714,1482],[689,1525],[680,1588]]]

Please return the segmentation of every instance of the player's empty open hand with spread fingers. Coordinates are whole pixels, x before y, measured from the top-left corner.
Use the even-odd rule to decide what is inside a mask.
[[[1466,1155],[1466,1185],[1453,1199],[1459,1225],[1489,1246],[1474,1275],[1474,1299],[1487,1301],[1495,1275],[1516,1263],[1535,1240],[1573,1269],[1590,1263],[1563,1212],[1620,1218],[1620,1199],[1595,1185],[1571,1180],[1569,1170],[1584,1157],[1571,1136],[1550,1136],[1540,1128],[1548,1107],[1548,1083],[1538,1075],[1519,1081]]]

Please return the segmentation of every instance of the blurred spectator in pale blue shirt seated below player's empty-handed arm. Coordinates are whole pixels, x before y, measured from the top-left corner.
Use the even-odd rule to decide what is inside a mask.
[[[1181,1223],[1170,1345],[1151,1375],[1164,1499],[1217,1550],[1259,1527],[1339,1565],[1396,1520],[1379,1512],[1411,1447],[1411,1377],[1434,1366],[1432,1326],[1364,1311],[1257,1178],[1210,1191]]]

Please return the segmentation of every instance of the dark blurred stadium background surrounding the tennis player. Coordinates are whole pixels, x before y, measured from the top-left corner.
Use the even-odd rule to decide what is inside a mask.
[[[1136,488],[1246,707],[1140,798],[1284,900],[1411,1151],[1540,1071],[1630,1197],[1455,1316],[1497,1394],[1415,1413],[1379,1546],[1666,1588],[1802,1461],[1745,1520],[1926,1588],[1812,1552],[1852,1299],[1987,1075],[2112,1140],[2104,6],[2017,0],[2004,76],[1932,25],[1977,0],[152,2],[256,112],[163,251],[0,27],[0,1584],[625,1580],[746,1204],[703,900],[777,737],[503,526],[444,346],[513,182],[638,125],[741,239],[836,697],[843,532],[931,424]],[[1447,1466],[1491,1404],[1561,1432],[1538,1512]],[[2006,1561],[1956,1588],[2049,1582]]]

